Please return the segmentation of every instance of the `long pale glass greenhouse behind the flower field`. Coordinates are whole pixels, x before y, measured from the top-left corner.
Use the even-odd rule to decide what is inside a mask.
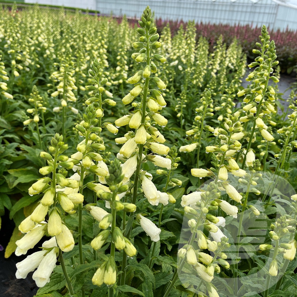
[[[25,0],[35,3],[36,0]],[[103,15],[139,18],[149,5],[156,18],[202,23],[251,24],[270,29],[297,29],[297,5],[277,0],[39,0],[39,4],[88,8]]]

